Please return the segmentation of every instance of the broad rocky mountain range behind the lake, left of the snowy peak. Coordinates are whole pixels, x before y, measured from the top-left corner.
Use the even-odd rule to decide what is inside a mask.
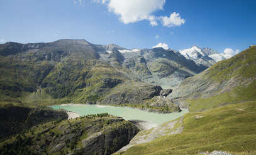
[[[175,51],[162,48],[128,50],[114,44],[96,45],[70,39],[35,44],[7,42],[0,45],[0,100],[44,105],[71,102],[147,105],[148,101],[142,100],[159,93],[131,103],[135,101],[133,94],[140,92],[127,94],[130,83],[145,85],[149,89],[144,89],[144,93],[150,94],[147,90],[176,86],[204,69]],[[119,96],[118,103],[109,100],[113,94]],[[152,99],[148,104],[153,106],[149,108],[159,112],[165,111],[159,107],[179,111],[170,100],[161,101],[156,104],[157,99]]]

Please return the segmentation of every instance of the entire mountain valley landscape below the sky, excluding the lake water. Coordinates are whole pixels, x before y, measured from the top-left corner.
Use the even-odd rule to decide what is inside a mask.
[[[0,44],[0,154],[256,154],[256,47],[126,49],[86,40]],[[189,113],[142,130],[61,104]],[[224,152],[223,152],[224,153]]]

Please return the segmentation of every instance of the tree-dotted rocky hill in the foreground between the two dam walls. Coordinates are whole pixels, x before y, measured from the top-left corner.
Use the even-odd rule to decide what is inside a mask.
[[[108,113],[40,124],[0,143],[1,154],[111,154],[140,129]]]

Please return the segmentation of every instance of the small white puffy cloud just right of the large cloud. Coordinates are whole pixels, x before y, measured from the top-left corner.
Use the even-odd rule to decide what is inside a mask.
[[[163,26],[167,27],[174,27],[174,26],[181,26],[185,23],[185,19],[182,19],[179,13],[173,12],[170,14],[170,17],[167,16],[160,16],[157,17],[162,23]]]

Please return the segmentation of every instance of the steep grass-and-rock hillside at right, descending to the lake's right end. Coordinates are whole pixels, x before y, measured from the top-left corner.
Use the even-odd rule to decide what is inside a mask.
[[[256,100],[256,48],[220,61],[175,87],[168,98],[190,111]]]

